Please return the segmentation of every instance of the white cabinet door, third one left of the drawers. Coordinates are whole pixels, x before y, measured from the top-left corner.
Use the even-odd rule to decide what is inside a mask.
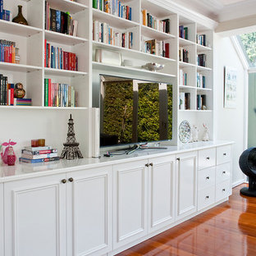
[[[125,162],[113,167],[114,249],[147,234],[147,162]]]

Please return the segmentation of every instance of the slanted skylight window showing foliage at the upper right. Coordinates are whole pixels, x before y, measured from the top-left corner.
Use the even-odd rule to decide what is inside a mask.
[[[256,66],[256,32],[237,36],[249,66]]]

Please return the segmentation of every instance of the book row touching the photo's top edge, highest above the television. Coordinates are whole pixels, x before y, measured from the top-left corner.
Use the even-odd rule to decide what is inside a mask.
[[[118,0],[93,0],[93,7],[126,20],[132,19],[131,7]]]

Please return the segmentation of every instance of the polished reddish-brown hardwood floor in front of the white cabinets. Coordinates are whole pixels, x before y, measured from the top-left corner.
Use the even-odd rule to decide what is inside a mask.
[[[119,256],[256,256],[256,198],[240,195],[127,249]]]

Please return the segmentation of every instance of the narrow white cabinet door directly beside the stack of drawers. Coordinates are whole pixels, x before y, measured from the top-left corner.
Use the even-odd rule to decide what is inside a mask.
[[[176,217],[190,215],[196,211],[197,203],[197,153],[176,155]]]

